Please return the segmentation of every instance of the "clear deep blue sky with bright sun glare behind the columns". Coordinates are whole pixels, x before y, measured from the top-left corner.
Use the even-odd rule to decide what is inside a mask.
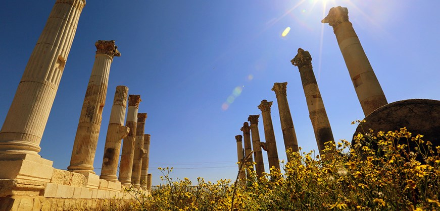
[[[0,7],[0,122],[11,105],[27,60],[55,1],[12,1]],[[100,173],[110,110],[118,85],[141,95],[148,113],[150,173],[174,167],[173,178],[209,181],[236,177],[234,136],[260,101],[274,101],[278,155],[285,159],[273,83],[288,82],[287,99],[299,145],[316,141],[298,68],[299,47],[314,72],[336,139],[350,139],[362,119],[332,28],[321,24],[335,6],[347,7],[388,102],[440,99],[437,1],[87,1],[67,59],[39,153],[66,169],[94,61],[96,40],[116,40],[94,162]],[[290,32],[282,37],[286,27]],[[234,93],[235,90],[235,93]],[[233,98],[228,97],[234,96]],[[226,103],[226,104],[225,104]],[[227,106],[226,106],[227,105]],[[264,129],[260,117],[260,137]],[[263,152],[268,170],[267,155]]]

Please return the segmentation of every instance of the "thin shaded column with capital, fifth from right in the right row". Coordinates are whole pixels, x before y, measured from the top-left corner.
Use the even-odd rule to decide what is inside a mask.
[[[248,121],[251,122],[252,148],[254,149],[255,170],[258,178],[264,176],[263,153],[260,147],[260,132],[258,131],[258,118],[260,115],[249,115]]]

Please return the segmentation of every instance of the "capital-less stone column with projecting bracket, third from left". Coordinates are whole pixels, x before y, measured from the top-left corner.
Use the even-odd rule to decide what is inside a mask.
[[[115,98],[113,100],[110,122],[107,129],[106,146],[104,147],[103,167],[101,169],[101,179],[117,181],[119,152],[121,150],[121,140],[128,135],[129,127],[124,126],[125,112],[127,110],[128,88],[117,86]]]

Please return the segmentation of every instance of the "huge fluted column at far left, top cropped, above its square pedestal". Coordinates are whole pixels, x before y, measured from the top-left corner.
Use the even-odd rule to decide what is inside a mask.
[[[33,154],[72,46],[84,0],[58,0],[38,38],[0,130],[0,154]]]

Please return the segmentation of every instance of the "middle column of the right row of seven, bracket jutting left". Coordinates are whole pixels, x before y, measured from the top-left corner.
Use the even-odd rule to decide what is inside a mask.
[[[260,146],[263,146],[263,149],[267,151],[269,169],[272,168],[272,166],[279,169],[278,150],[276,149],[275,133],[273,131],[272,117],[270,115],[270,107],[272,106],[272,103],[272,101],[267,102],[267,100],[262,100],[258,106],[261,110],[261,115],[263,116],[264,137],[266,139],[266,143],[261,143]]]

